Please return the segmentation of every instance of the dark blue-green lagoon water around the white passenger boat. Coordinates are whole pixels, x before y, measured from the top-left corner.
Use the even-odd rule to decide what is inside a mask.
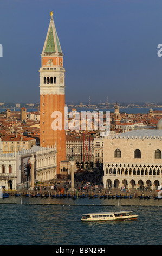
[[[162,200],[0,199],[0,245],[161,245]],[[81,222],[83,213],[132,210],[135,221]]]

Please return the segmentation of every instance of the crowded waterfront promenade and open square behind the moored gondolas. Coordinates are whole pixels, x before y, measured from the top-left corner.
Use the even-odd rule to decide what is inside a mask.
[[[102,172],[85,172],[75,176],[74,191],[70,191],[70,179],[53,179],[42,183],[35,184],[34,190],[3,190],[6,196],[22,196],[22,197],[89,197],[89,198],[157,198],[158,191],[150,188],[120,190],[119,188],[103,188]]]

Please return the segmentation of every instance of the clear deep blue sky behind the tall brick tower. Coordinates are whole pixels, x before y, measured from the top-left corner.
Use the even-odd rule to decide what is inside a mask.
[[[162,102],[161,0],[1,0],[0,102],[39,102],[50,11],[66,102]]]

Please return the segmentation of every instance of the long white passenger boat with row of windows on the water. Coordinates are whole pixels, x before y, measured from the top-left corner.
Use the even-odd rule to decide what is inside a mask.
[[[119,212],[94,212],[93,214],[83,214],[81,221],[125,221],[137,220],[138,215],[132,211]]]

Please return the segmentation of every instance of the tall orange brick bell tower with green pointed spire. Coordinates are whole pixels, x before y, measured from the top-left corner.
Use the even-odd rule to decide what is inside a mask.
[[[57,174],[60,161],[66,160],[66,134],[64,130],[64,73],[63,54],[57,36],[53,12],[41,54],[40,72],[40,146],[57,148]],[[62,114],[62,129],[54,129],[52,114]]]

